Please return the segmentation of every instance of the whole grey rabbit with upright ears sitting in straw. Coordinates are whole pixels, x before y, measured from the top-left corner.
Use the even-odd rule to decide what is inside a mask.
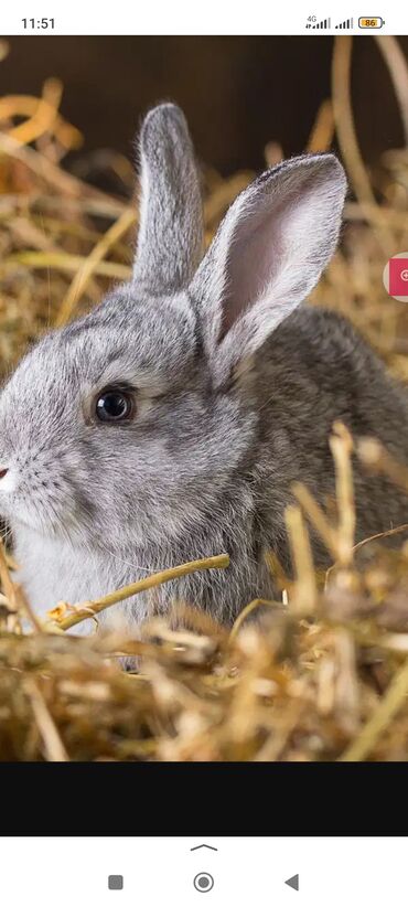
[[[28,352],[0,395],[0,513],[40,618],[165,567],[230,565],[107,609],[137,633],[183,600],[225,626],[290,570],[284,509],[304,482],[334,497],[335,419],[407,460],[408,403],[339,314],[303,305],[336,247],[346,193],[332,153],[267,170],[204,254],[183,113],[161,104],[139,141],[130,282]],[[407,499],[355,463],[357,538],[407,520]],[[316,564],[328,554],[313,538]],[[86,621],[84,631],[89,630]],[[77,629],[77,628],[75,628]]]

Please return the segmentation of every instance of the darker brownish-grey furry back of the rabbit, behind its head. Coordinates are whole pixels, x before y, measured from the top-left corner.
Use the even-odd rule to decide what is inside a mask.
[[[323,506],[334,501],[333,423],[344,423],[355,440],[376,438],[408,463],[408,395],[346,319],[312,306],[279,326],[258,363],[265,532],[288,564],[278,526],[293,502],[292,483],[304,483]],[[407,522],[408,498],[394,482],[368,474],[356,456],[353,470],[356,541]],[[314,544],[318,559],[329,563],[328,552]]]

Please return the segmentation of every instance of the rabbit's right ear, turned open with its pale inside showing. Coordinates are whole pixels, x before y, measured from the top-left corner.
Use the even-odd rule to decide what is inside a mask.
[[[218,383],[318,282],[345,192],[337,159],[310,154],[268,170],[227,212],[191,285]]]

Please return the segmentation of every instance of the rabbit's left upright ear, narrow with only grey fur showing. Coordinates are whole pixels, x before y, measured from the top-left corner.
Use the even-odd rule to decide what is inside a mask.
[[[183,113],[161,104],[140,134],[141,204],[135,279],[174,291],[194,274],[203,250],[203,212],[194,151]]]

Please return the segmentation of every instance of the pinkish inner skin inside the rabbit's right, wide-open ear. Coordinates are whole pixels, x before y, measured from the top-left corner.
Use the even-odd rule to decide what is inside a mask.
[[[219,340],[233,324],[273,284],[283,254],[282,209],[288,214],[288,199],[270,211],[266,199],[261,211],[248,211],[238,222],[228,254],[226,290]]]

